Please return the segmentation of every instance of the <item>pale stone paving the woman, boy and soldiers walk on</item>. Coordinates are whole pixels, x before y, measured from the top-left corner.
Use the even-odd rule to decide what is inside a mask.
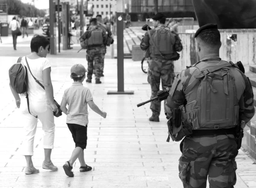
[[[90,172],[79,172],[79,161],[74,164],[73,178],[64,174],[62,165],[73,150],[74,143],[65,124],[66,116],[55,118],[55,148],[52,162],[56,172],[41,168],[44,160],[42,126],[38,122],[33,162],[39,174],[25,175],[26,162],[20,155],[23,119],[9,90],[8,69],[16,57],[0,57],[0,188],[182,188],[178,177],[179,142],[166,142],[166,118],[150,122],[149,104],[137,108],[136,104],[151,95],[147,75],[140,62],[125,60],[125,90],[134,95],[107,95],[117,90],[116,60],[105,60],[102,84],[83,83],[93,93],[95,103],[108,113],[101,118],[89,108],[88,144],[85,160],[93,167]],[[75,63],[86,65],[83,58],[49,57],[52,64],[52,84],[55,99],[60,103],[64,90],[72,84],[70,67]],[[4,63],[3,63],[4,62]],[[85,66],[87,67],[87,66]],[[162,104],[163,112],[163,104]],[[256,165],[242,150],[237,156],[237,183],[235,188],[256,188]],[[207,188],[209,185],[207,185]]]

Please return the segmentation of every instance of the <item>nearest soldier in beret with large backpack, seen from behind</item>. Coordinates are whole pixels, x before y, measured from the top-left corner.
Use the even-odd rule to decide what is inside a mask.
[[[255,113],[253,90],[243,72],[219,57],[217,25],[200,27],[195,38],[200,62],[176,76],[166,104],[169,116],[184,105],[192,133],[181,145],[179,176],[184,188],[206,188],[207,176],[212,188],[233,188],[241,147],[234,138]]]

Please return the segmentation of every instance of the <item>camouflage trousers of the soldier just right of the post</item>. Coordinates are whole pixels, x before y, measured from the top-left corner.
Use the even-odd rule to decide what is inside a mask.
[[[162,82],[162,89],[172,87],[175,79],[173,61],[170,60],[157,60],[152,58],[148,61],[148,83],[151,86],[151,98],[157,96],[160,90],[160,81]],[[164,100],[166,104],[167,100]],[[166,105],[164,105],[165,107]],[[154,116],[159,116],[161,111],[161,101],[152,101],[150,109]],[[164,108],[166,114],[166,108]]]

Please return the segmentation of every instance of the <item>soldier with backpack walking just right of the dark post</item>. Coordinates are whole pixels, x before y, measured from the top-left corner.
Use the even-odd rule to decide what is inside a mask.
[[[151,86],[151,98],[157,96],[160,87],[172,87],[175,78],[173,61],[178,60],[183,49],[179,36],[165,26],[166,17],[157,13],[154,17],[154,29],[145,34],[140,48],[148,52],[148,83]],[[164,101],[166,103],[166,100]],[[159,121],[161,101],[152,101],[150,105],[152,116],[149,121]],[[166,110],[165,110],[166,111]],[[165,113],[166,114],[166,113]],[[168,118],[168,116],[167,116]]]

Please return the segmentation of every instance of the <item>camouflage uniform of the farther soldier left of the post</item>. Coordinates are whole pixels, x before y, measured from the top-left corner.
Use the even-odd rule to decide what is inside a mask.
[[[90,38],[90,30],[93,29],[94,27],[99,27],[99,26],[90,26],[87,31],[84,33],[82,38],[88,39]],[[102,29],[103,32],[105,32],[104,29]],[[92,79],[93,75],[93,68],[95,69],[95,77],[96,79],[99,79],[101,77],[101,69],[102,69],[102,64],[104,62],[104,57],[106,53],[106,48],[105,48],[105,43],[107,41],[107,36],[104,35],[103,38],[103,43],[102,45],[96,45],[96,46],[88,46],[87,47],[87,54],[86,54],[86,60],[88,62],[88,74],[87,78],[88,80]],[[93,66],[94,62],[94,66]]]

